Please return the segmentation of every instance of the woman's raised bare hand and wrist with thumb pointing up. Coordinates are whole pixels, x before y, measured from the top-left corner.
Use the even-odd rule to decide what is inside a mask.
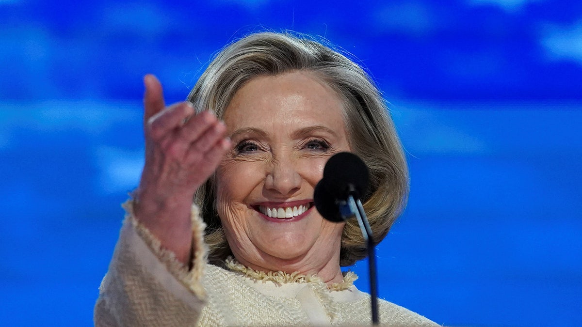
[[[187,102],[166,107],[162,86],[153,75],[144,77],[144,85],[145,165],[134,212],[163,247],[187,264],[192,198],[217,168],[230,140],[213,113],[196,115]]]

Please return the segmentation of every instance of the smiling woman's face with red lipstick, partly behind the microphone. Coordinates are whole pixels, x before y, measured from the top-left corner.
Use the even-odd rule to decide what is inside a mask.
[[[256,77],[224,121],[233,149],[217,170],[217,209],[237,260],[275,271],[339,264],[344,223],[313,204],[328,158],[350,151],[339,97],[308,72]]]

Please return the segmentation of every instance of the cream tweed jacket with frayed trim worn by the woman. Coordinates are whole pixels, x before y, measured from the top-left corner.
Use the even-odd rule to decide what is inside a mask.
[[[193,206],[192,268],[160,247],[124,204],[126,219],[95,304],[95,326],[329,326],[368,325],[370,296],[353,276],[328,289],[317,276],[251,271],[234,261],[206,262],[204,223]],[[396,304],[379,300],[389,326],[438,326]]]

